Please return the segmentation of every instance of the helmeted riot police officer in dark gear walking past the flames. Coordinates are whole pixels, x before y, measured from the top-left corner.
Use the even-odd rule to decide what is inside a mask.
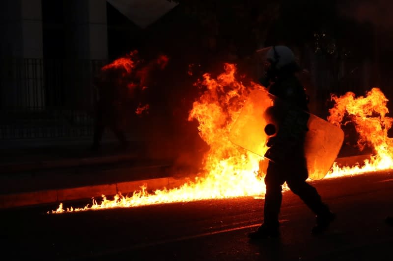
[[[298,70],[293,52],[284,46],[271,48],[266,56],[267,70],[261,83],[269,88],[269,93],[276,95],[281,101],[294,105],[299,109],[309,111],[308,97],[305,90],[294,73]],[[316,226],[312,229],[313,234],[325,231],[329,224],[335,219],[317,190],[309,185],[307,162],[304,152],[304,142],[307,132],[308,114],[300,124],[300,132],[296,135],[289,133],[285,135],[285,124],[288,124],[288,115],[280,111],[279,101],[275,101],[271,112],[282,114],[284,119],[279,120],[279,131],[268,141],[270,148],[267,150],[269,161],[265,176],[266,194],[264,203],[264,223],[257,231],[249,234],[252,239],[279,236],[279,213],[282,200],[282,185],[284,182],[297,194],[306,205],[316,214]],[[289,123],[291,124],[291,123]],[[288,129],[291,126],[288,125]],[[265,130],[266,131],[266,130]],[[288,134],[288,133],[287,133]],[[279,139],[280,137],[280,139]]]

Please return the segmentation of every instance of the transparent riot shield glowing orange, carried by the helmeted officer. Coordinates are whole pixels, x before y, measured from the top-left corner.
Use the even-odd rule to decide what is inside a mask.
[[[273,106],[275,105],[275,106]],[[307,121],[307,132],[304,141],[304,153],[307,160],[309,178],[323,179],[332,167],[344,140],[344,132],[337,126],[320,119],[313,114],[293,108],[264,89],[251,92],[245,102],[239,118],[233,124],[229,140],[255,154],[273,160],[266,155],[267,142],[274,137],[272,133],[280,133],[278,119],[296,119],[299,125],[292,124],[288,134],[296,134],[303,120]],[[269,134],[269,135],[268,135]],[[278,137],[279,138],[279,137]]]

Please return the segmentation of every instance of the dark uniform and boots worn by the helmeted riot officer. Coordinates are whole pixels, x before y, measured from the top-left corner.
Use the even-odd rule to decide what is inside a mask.
[[[273,159],[269,161],[265,176],[266,194],[264,205],[264,224],[250,234],[251,238],[269,237],[279,235],[279,213],[282,200],[282,185],[284,182],[298,195],[306,205],[316,214],[317,226],[313,233],[325,230],[334,219],[317,190],[306,180],[309,176],[304,152],[304,141],[307,132],[309,114],[308,97],[299,80],[293,73],[278,75],[270,86],[269,93],[277,96],[284,103],[289,104],[284,113],[281,105],[275,102],[273,109],[278,113],[279,130],[276,136],[270,138],[265,156]],[[288,110],[289,108],[289,110]],[[291,110],[290,108],[297,108]],[[301,109],[301,110],[298,110]],[[277,116],[276,116],[277,117]]]

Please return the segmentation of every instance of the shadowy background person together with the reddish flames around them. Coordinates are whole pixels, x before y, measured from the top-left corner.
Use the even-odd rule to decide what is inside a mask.
[[[150,105],[147,102],[153,101],[152,106],[156,111],[164,111],[165,106],[156,102],[162,101],[165,95],[159,93],[159,90],[164,88],[158,88],[157,73],[163,71],[167,64],[166,55],[159,55],[147,62],[140,59],[138,51],[134,50],[101,69],[94,82],[98,98],[93,149],[100,147],[105,128],[112,130],[121,148],[127,148],[129,142],[125,136],[125,129],[131,122],[136,123],[133,121],[136,116],[141,118],[149,113]],[[156,100],[153,96],[157,97]],[[147,130],[142,131],[148,133],[151,129],[154,129],[153,126],[148,126]]]

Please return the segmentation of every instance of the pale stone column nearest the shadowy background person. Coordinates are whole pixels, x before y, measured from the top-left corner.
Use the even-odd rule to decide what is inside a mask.
[[[64,66],[69,75],[67,98],[70,106],[90,109],[93,99],[91,78],[108,59],[107,2],[106,0],[69,0],[64,6],[65,47]],[[96,66],[98,64],[98,66]]]

